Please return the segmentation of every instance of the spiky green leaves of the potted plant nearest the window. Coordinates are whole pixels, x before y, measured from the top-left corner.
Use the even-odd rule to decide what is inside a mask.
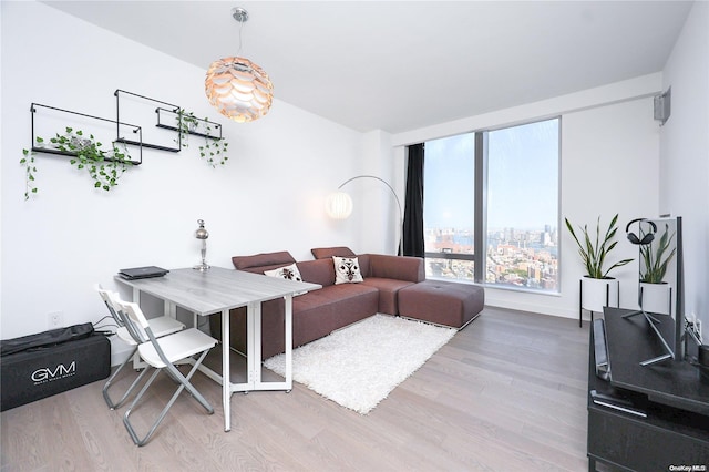
[[[618,232],[618,227],[616,224],[618,223],[618,215],[613,217],[606,233],[600,238],[600,216],[596,222],[596,237],[592,240],[592,236],[588,233],[588,225],[584,225],[583,228],[583,244],[580,239],[576,236],[574,232],[574,227],[572,226],[568,218],[564,218],[566,222],[566,227],[568,232],[574,237],[576,245],[578,246],[578,254],[580,255],[582,261],[586,267],[586,275],[590,278],[608,278],[608,273],[616,267],[625,266],[626,264],[633,261],[633,259],[623,259],[614,265],[612,265],[608,269],[604,269],[606,264],[606,257],[608,254],[616,247],[618,244],[617,240],[613,240]]]

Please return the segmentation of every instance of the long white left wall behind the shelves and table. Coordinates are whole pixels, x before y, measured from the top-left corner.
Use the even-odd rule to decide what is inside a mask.
[[[369,158],[361,133],[277,99],[263,120],[229,122],[204,96],[203,70],[42,3],[1,8],[2,339],[47,329],[52,311],[63,312],[65,325],[96,321],[105,308],[91,287],[115,286],[120,268],[198,263],[198,218],[210,233],[207,261],[216,266],[258,252],[307,259],[317,246],[379,249],[360,246],[357,219],[335,224],[323,212],[325,196]],[[196,146],[144,150],[143,165],[104,193],[68,160],[38,154],[40,193],[24,202],[19,160],[31,144],[30,103],[113,117],[116,89],[222,123],[227,166],[208,167]],[[388,237],[380,226],[369,232]]]

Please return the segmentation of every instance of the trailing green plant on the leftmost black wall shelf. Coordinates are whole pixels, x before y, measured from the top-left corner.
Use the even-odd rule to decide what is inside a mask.
[[[103,144],[95,140],[93,134],[85,135],[81,130],[66,127],[64,134],[59,134],[49,140],[51,148],[71,155],[69,161],[71,165],[75,165],[78,170],[84,170],[89,173],[94,182],[95,188],[102,188],[109,192],[119,185],[119,179],[123,173],[133,165],[131,156],[125,150],[115,145],[110,151],[102,148]],[[45,140],[35,137],[37,147],[44,147]],[[34,160],[35,152],[32,150],[22,150],[23,157],[20,164],[25,167],[25,191],[24,199],[29,199],[30,195],[37,194],[35,185],[37,162]]]

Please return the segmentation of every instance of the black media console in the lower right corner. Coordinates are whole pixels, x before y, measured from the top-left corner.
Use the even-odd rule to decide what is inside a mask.
[[[640,366],[665,351],[645,318],[623,318],[628,312],[606,308],[596,321],[605,325],[605,352],[600,325],[590,329],[588,470],[598,461],[638,472],[709,472],[709,372],[688,361]],[[672,339],[671,318],[657,317]]]

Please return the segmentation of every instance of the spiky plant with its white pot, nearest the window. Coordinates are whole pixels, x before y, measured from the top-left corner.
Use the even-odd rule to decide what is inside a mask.
[[[589,233],[588,225],[579,228],[583,230],[583,243],[582,238],[576,235],[574,226],[568,218],[564,218],[564,220],[566,222],[566,228],[578,246],[578,254],[584,263],[584,267],[586,267],[586,275],[580,281],[580,308],[578,314],[580,324],[580,310],[586,309],[592,311],[593,318],[593,311],[603,311],[603,307],[608,306],[613,298],[618,298],[618,284],[612,284],[615,278],[608,276],[608,274],[617,267],[625,266],[633,259],[618,260],[608,267],[609,261],[607,257],[618,244],[617,240],[614,240],[618,232],[618,214],[616,214],[608,224],[608,228],[603,235],[603,238],[600,235],[600,216],[598,216],[596,220],[595,237]]]

